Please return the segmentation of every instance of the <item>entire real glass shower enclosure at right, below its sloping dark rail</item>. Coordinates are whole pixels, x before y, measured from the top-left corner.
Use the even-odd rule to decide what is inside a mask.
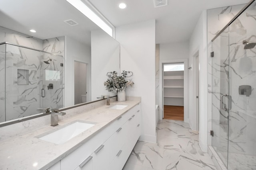
[[[212,41],[212,148],[228,170],[256,169],[256,2]],[[220,163],[219,163],[220,164]]]

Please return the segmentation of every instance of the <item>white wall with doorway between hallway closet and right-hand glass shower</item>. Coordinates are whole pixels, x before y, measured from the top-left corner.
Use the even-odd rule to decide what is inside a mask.
[[[195,90],[193,71],[193,56],[199,52],[199,145],[207,151],[207,13],[202,12],[189,41],[189,123],[196,129]]]

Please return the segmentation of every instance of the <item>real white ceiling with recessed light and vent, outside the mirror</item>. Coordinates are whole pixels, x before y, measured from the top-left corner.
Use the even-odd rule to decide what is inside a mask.
[[[188,41],[203,10],[246,4],[250,0],[168,0],[154,8],[154,0],[90,0],[115,26],[156,20],[156,43]],[[127,8],[118,8],[125,2]]]

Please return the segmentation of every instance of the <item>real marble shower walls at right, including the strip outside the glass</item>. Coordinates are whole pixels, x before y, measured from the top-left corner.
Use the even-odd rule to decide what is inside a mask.
[[[228,159],[228,169],[247,170],[256,169],[256,48],[245,50],[242,41],[256,42],[255,3],[230,25],[229,33],[223,33],[213,43],[210,41],[224,27],[224,21],[233,18],[243,6],[208,10],[208,53],[215,53],[213,58],[208,56],[208,131],[214,129],[216,136],[208,136],[208,145],[214,147],[214,140],[218,141],[216,152],[225,164]],[[228,80],[232,96],[229,122],[227,112],[223,114],[219,109],[220,95],[228,93]],[[252,86],[252,94],[240,95],[241,85]]]

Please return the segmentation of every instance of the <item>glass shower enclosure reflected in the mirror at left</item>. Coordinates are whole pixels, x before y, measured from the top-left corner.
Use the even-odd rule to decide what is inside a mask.
[[[63,57],[0,44],[0,122],[63,107]]]

